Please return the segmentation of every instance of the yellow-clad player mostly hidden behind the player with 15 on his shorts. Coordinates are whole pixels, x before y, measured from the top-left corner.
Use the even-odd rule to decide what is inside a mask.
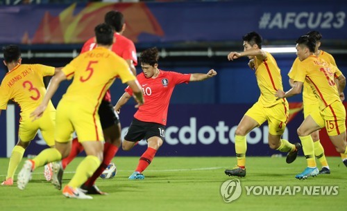
[[[321,38],[322,35],[316,30],[312,30],[308,32],[306,35],[312,37],[316,41],[316,48],[314,50],[314,55],[324,59],[326,62],[330,62],[330,64],[337,66],[334,57],[330,55],[329,53],[319,50],[319,47],[321,46]],[[298,57],[296,57],[293,65],[291,66],[291,70],[288,73],[289,76],[289,84],[291,86],[294,86],[293,77],[296,75],[296,72],[298,71],[298,63],[300,60]],[[341,100],[344,100],[344,93],[340,93]],[[304,82],[303,84],[303,112],[304,112],[304,118],[306,118],[309,113],[313,112],[319,112],[319,101],[314,95],[310,85],[307,84],[307,82]],[[328,165],[328,161],[325,158],[324,155],[324,149],[321,145],[321,141],[319,140],[319,131],[314,131],[312,134],[312,139],[314,142],[314,155],[319,160],[319,162],[322,165],[322,169],[319,171],[319,174],[330,174],[330,168]],[[347,157],[345,154],[341,154],[341,159],[347,166]]]

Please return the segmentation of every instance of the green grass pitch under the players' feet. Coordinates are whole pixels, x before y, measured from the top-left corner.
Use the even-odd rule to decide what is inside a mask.
[[[63,185],[73,176],[82,158],[68,165]],[[340,158],[328,157],[332,174],[319,175],[306,180],[294,178],[306,167],[305,158],[298,157],[294,163],[285,158],[246,158],[247,175],[239,178],[242,195],[236,201],[225,203],[220,193],[221,184],[235,177],[228,177],[224,169],[233,167],[235,157],[156,157],[144,172],[144,181],[129,181],[138,157],[115,157],[115,178],[96,181],[96,185],[108,192],[108,196],[94,196],[92,200],[66,199],[51,183],[46,182],[43,168],[35,170],[33,179],[21,191],[16,185],[0,187],[0,210],[346,210],[347,168]],[[23,159],[24,161],[25,159]],[[23,163],[22,161],[22,163]],[[8,158],[0,158],[0,179],[6,176]],[[22,168],[22,164],[17,169]],[[245,186],[276,185],[285,187],[330,185],[338,186],[335,196],[295,195],[247,195]]]

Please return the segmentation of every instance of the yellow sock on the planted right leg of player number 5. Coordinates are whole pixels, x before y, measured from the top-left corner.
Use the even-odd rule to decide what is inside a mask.
[[[85,157],[80,165],[76,169],[76,174],[71,178],[69,182],[70,187],[80,187],[90,176],[94,174],[96,169],[101,164],[101,161],[96,156]]]

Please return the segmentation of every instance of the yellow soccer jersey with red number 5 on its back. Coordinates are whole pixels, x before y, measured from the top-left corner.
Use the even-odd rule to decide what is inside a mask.
[[[123,83],[136,80],[124,59],[102,47],[78,55],[62,72],[67,79],[74,77],[62,99],[81,104],[89,111],[99,109],[99,103],[116,77]]]

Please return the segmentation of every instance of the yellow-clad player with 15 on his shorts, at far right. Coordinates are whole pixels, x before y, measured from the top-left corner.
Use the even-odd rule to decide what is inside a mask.
[[[289,98],[301,93],[303,83],[307,82],[319,99],[320,112],[310,113],[298,128],[307,160],[307,168],[296,175],[298,179],[319,174],[314,159],[314,143],[310,136],[312,132],[325,127],[337,152],[347,154],[346,110],[339,94],[344,91],[346,78],[336,66],[314,55],[315,48],[316,41],[312,37],[304,35],[296,40],[296,54],[301,62],[298,63],[298,71],[293,78],[294,86],[287,92],[279,89],[276,93],[278,98]],[[335,77],[339,81],[338,85],[335,84]]]

